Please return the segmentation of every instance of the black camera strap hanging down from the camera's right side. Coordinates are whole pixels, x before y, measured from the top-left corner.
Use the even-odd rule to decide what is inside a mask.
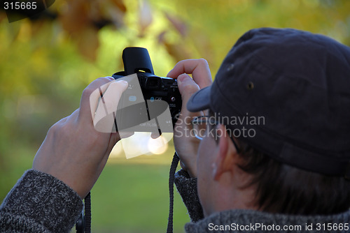
[[[167,233],[173,232],[173,212],[174,212],[174,179],[176,167],[179,164],[179,156],[177,153],[174,153],[174,157],[172,160],[172,165],[170,166],[169,172],[169,218],[168,218],[168,227]]]

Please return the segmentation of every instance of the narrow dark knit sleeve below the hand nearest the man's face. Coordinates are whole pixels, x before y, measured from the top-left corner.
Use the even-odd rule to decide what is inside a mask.
[[[197,179],[190,178],[185,170],[179,170],[175,174],[174,183],[185,204],[188,214],[193,222],[204,218],[202,205],[197,194]]]

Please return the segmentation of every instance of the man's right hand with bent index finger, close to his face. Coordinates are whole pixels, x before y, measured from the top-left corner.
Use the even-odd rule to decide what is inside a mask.
[[[192,74],[193,79],[187,75]],[[205,59],[189,59],[179,61],[167,77],[177,78],[182,98],[181,114],[174,128],[174,146],[180,157],[181,167],[190,176],[197,176],[197,149],[200,140],[190,134],[190,121],[203,112],[189,112],[186,108],[188,100],[196,91],[211,85],[211,73]]]

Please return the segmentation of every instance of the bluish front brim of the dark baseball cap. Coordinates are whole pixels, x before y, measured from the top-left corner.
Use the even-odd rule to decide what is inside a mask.
[[[190,112],[199,112],[207,110],[210,107],[211,86],[205,87],[191,96],[187,103],[187,109]]]

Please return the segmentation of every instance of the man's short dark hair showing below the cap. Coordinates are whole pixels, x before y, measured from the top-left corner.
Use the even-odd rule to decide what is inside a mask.
[[[350,181],[344,177],[300,170],[241,141],[239,147],[239,167],[253,176],[247,186],[255,186],[254,204],[260,210],[314,215],[341,213],[349,209]]]

